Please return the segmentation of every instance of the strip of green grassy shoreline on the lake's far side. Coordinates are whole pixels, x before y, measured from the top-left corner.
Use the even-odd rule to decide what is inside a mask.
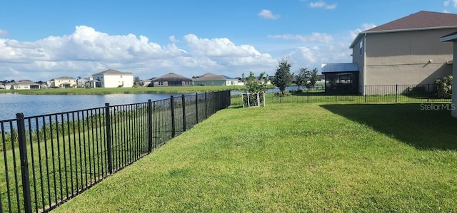
[[[0,93],[24,95],[104,95],[143,93],[204,93],[218,90],[243,90],[244,86],[176,86],[176,87],[132,87],[132,88],[56,88],[38,90],[0,90]]]

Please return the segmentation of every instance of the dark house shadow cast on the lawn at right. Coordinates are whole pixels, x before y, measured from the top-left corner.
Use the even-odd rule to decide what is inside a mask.
[[[333,104],[322,108],[370,126],[420,150],[457,150],[457,118],[451,104]]]

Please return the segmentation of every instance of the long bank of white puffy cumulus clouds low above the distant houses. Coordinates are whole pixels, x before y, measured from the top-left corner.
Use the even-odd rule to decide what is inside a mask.
[[[146,36],[110,35],[90,26],[76,26],[64,36],[36,41],[0,38],[0,79],[49,80],[60,76],[88,77],[113,68],[140,78],[169,72],[183,76],[219,73],[241,76],[247,71],[274,69],[276,59],[254,46],[238,45],[229,38],[186,35],[180,42],[159,44]]]

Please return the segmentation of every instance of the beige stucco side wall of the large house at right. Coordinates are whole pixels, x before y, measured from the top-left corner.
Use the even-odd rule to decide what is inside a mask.
[[[452,46],[439,38],[456,30],[367,34],[365,85],[433,84],[436,78],[451,75],[452,66],[447,62],[452,60]]]

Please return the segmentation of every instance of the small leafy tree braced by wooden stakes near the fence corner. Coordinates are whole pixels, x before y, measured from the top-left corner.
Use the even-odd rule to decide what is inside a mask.
[[[246,96],[243,95],[243,105],[260,106],[262,103],[264,105],[265,100],[260,93],[265,93],[266,91],[266,80],[268,79],[266,73],[260,73],[258,78],[254,76],[253,72],[249,72],[249,76],[246,78],[243,73],[241,77],[244,85],[246,85],[244,89]]]

